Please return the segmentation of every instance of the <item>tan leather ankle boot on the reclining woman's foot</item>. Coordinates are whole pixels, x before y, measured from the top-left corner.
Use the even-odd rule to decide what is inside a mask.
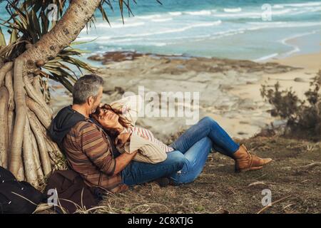
[[[249,170],[260,170],[263,165],[272,161],[271,158],[260,158],[250,154],[245,145],[240,145],[240,148],[233,154],[235,160],[235,172],[245,172]]]

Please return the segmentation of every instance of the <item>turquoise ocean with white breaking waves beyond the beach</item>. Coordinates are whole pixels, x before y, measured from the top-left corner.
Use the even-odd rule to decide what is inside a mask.
[[[81,31],[77,41],[91,41],[77,47],[90,52],[82,58],[139,51],[265,61],[320,51],[321,1],[130,2],[135,16],[125,11],[125,24],[114,2],[114,11],[105,6],[111,26],[97,13],[96,28]]]

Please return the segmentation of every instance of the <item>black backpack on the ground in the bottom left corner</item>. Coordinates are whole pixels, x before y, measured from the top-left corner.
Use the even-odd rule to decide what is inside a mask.
[[[31,214],[46,195],[0,166],[0,214]]]

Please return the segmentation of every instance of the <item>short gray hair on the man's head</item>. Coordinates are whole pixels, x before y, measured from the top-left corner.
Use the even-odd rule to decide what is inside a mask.
[[[73,85],[73,104],[86,103],[91,96],[97,97],[99,88],[103,86],[103,78],[96,74],[87,74],[79,78]]]

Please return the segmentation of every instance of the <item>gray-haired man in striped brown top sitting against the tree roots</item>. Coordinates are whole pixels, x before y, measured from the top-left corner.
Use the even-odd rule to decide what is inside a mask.
[[[128,185],[167,177],[183,168],[185,157],[170,152],[164,162],[148,164],[132,161],[136,152],[120,154],[101,125],[90,118],[103,95],[103,79],[86,75],[73,86],[73,105],[61,109],[49,133],[66,155],[68,165],[91,187],[121,192]]]

